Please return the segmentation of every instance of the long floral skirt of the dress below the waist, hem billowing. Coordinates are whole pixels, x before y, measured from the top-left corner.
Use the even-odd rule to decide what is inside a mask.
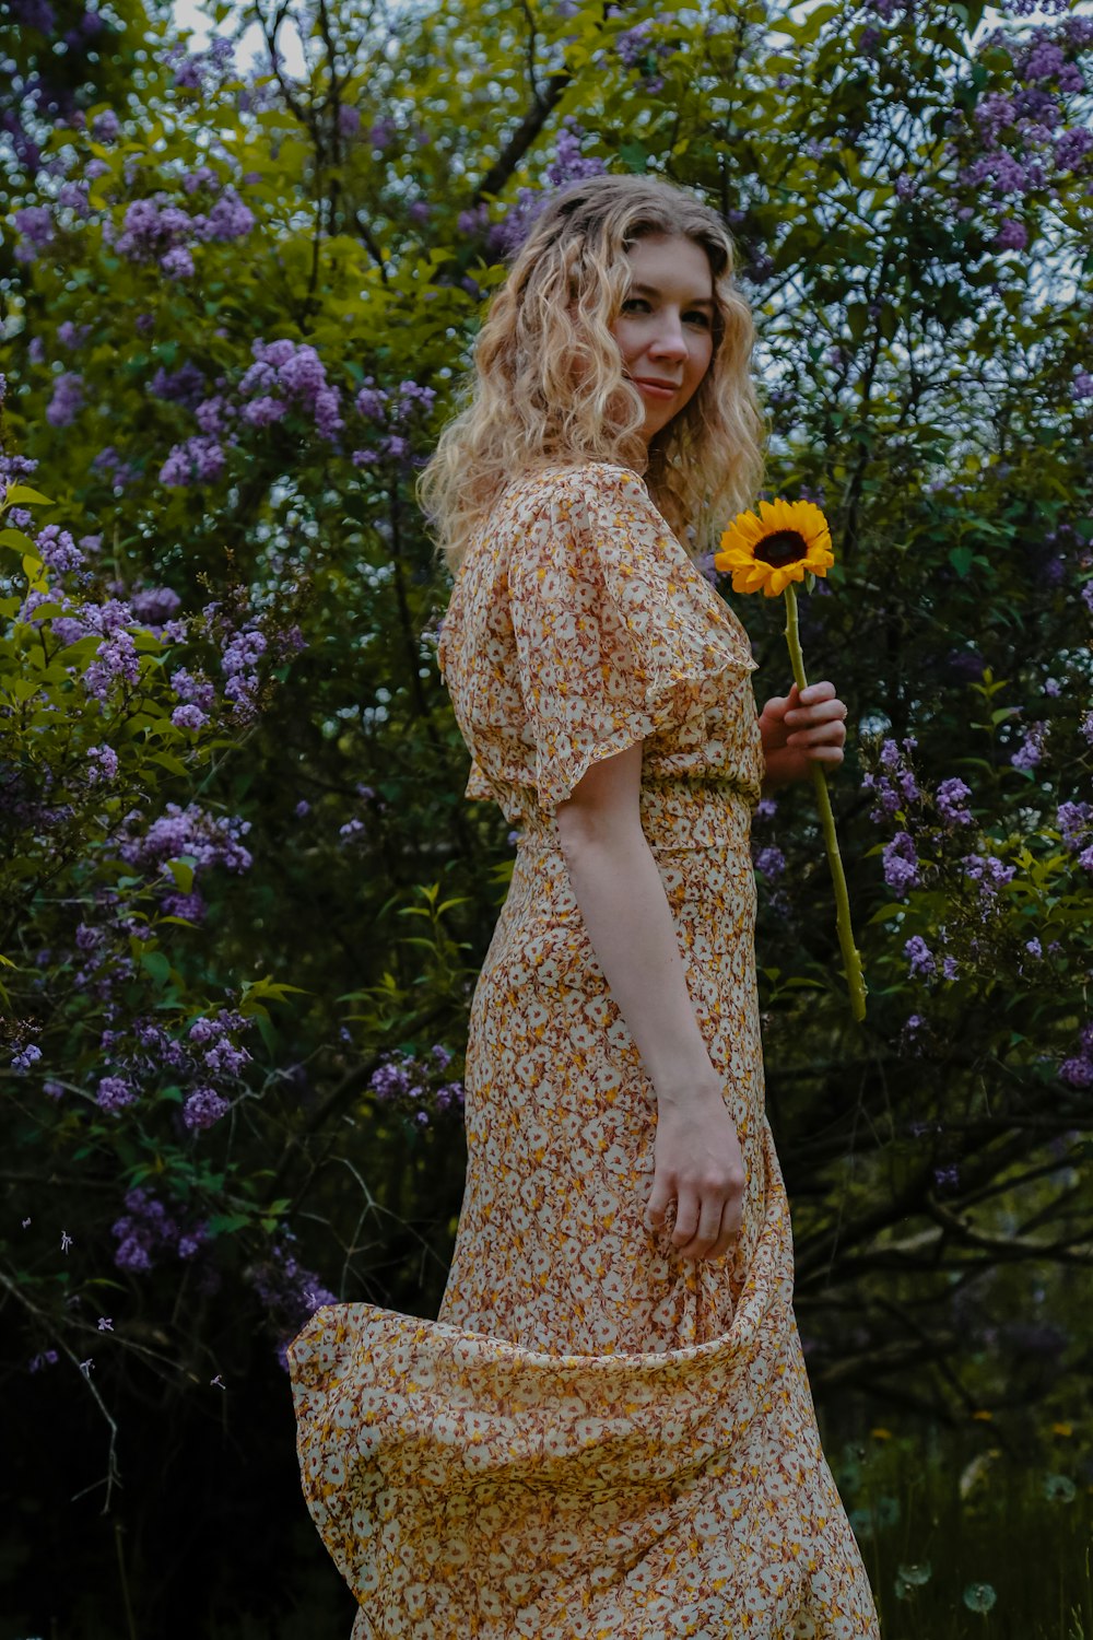
[[[470,1010],[467,1187],[438,1320],[318,1310],[288,1350],[352,1640],[878,1640],[821,1450],[764,1105],[749,805],[642,786],[746,1169],[741,1235],[644,1223],[655,1099],[529,815]]]

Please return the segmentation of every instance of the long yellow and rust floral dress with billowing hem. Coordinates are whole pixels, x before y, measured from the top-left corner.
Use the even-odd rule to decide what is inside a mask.
[[[880,1635],[819,1445],[764,1107],[744,630],[628,467],[511,482],[439,664],[465,795],[519,828],[465,1064],[438,1320],[316,1310],[288,1350],[311,1517],[352,1640]],[[592,948],[557,804],[642,748],[641,823],[746,1168],[716,1260],[649,1230],[655,1099]]]

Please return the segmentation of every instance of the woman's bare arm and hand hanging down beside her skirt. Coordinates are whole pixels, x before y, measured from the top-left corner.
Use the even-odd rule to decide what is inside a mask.
[[[642,743],[585,772],[557,805],[569,879],[611,995],[657,1096],[651,1227],[677,1202],[683,1258],[719,1258],[739,1233],[744,1161],[698,1028],[672,910],[641,828]]]

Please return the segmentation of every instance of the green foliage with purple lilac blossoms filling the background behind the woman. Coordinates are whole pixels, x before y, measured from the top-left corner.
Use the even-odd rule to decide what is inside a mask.
[[[865,1027],[808,787],[755,822],[757,953],[885,1635],[1093,1633],[1090,7],[208,15],[0,0],[0,1640],[352,1622],[283,1346],[436,1314],[515,845],[413,481],[598,171],[723,213],[764,495],[834,538]],[[785,694],[780,602],[703,567]]]

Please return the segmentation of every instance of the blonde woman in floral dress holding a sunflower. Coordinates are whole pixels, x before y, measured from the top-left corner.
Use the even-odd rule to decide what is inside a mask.
[[[757,717],[680,541],[762,476],[731,274],[680,189],[556,195],[421,476],[467,795],[521,830],[439,1319],[331,1305],[290,1346],[354,1640],[878,1635],[793,1315],[749,854],[764,784],[842,761],[846,707]]]

